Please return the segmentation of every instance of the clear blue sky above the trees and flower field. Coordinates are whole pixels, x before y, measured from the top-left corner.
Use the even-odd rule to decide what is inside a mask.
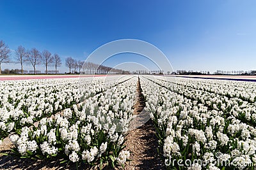
[[[2,0],[0,39],[12,50],[23,45],[59,53],[61,71],[68,71],[65,57],[84,60],[123,38],[156,45],[175,70],[247,71],[256,69],[255,8],[254,0]]]

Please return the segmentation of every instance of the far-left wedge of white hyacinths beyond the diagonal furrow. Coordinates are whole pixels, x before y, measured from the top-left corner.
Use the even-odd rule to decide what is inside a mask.
[[[118,78],[118,81],[116,81]],[[0,139],[6,138],[16,124],[32,125],[38,120],[50,117],[63,108],[70,108],[79,103],[81,97],[87,99],[100,90],[110,89],[118,83],[131,77],[120,78],[64,78],[45,80],[19,80],[0,82],[0,128],[6,133],[0,134]],[[82,88],[80,85],[84,85]],[[70,110],[65,110],[65,117],[70,117]]]

